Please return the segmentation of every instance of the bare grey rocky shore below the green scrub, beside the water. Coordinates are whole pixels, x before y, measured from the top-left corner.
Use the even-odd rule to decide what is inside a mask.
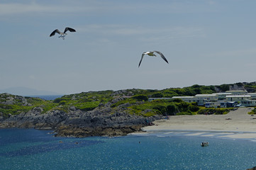
[[[93,111],[81,111],[70,106],[67,113],[54,110],[45,114],[42,114],[43,108],[35,107],[27,113],[0,120],[0,128],[52,129],[55,136],[116,136],[140,131],[152,121],[162,118],[160,115],[150,118],[130,115],[128,108],[110,106],[111,103],[106,103]]]

